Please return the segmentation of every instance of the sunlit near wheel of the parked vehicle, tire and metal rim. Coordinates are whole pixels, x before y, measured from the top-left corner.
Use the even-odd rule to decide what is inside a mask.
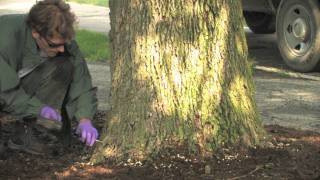
[[[317,0],[283,0],[276,20],[283,60],[300,72],[315,70],[320,58],[320,11]]]

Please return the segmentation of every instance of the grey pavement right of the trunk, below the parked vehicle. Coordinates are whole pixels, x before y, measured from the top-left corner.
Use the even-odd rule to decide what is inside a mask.
[[[301,75],[285,65],[277,48],[275,34],[256,35],[247,31],[247,39],[249,54],[258,65]],[[302,75],[313,78],[255,72],[256,102],[265,124],[320,132],[320,73]]]

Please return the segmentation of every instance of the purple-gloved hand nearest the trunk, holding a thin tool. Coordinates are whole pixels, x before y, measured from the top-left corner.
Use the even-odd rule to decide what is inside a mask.
[[[97,129],[92,126],[89,119],[80,121],[76,134],[78,134],[81,141],[85,142],[88,146],[93,146],[99,136]]]

